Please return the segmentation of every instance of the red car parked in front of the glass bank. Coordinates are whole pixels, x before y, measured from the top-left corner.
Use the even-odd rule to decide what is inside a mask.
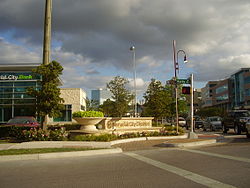
[[[7,123],[7,126],[16,127],[39,127],[40,124],[33,116],[16,116],[11,118]]]

